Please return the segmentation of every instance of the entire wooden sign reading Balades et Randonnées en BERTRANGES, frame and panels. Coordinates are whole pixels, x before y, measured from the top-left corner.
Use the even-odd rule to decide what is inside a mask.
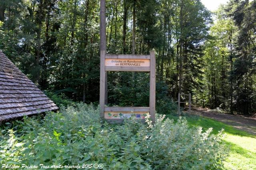
[[[149,107],[105,107],[105,76],[107,71],[143,71],[150,72],[150,102]],[[155,121],[156,108],[156,59],[155,52],[150,55],[110,55],[100,51],[100,113],[106,120],[123,120],[135,116],[145,119],[150,114]]]

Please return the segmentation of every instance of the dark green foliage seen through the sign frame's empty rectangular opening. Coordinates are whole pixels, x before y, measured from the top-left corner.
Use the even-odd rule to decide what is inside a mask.
[[[108,76],[108,97],[110,105],[148,107],[149,74],[113,72]]]

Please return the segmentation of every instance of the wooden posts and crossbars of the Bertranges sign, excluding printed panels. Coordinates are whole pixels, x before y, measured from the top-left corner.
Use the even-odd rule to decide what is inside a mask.
[[[150,66],[105,66],[106,59],[127,59],[144,60],[146,63],[150,61]],[[107,71],[136,71],[136,72],[150,72],[150,100],[149,107],[105,107],[105,77]],[[152,123],[155,122],[156,111],[156,58],[155,52],[150,51],[150,55],[111,55],[106,54],[106,51],[100,51],[100,115],[104,119],[105,111],[109,112],[149,112]],[[122,122],[123,119],[107,119],[114,122]]]

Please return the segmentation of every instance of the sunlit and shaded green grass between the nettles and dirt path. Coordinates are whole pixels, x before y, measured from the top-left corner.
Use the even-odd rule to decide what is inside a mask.
[[[178,120],[176,115],[167,115],[170,119]],[[212,133],[218,134],[222,128],[225,129],[226,137],[224,144],[229,150],[228,157],[224,161],[225,169],[255,170],[256,169],[256,136],[245,131],[238,130],[220,121],[197,115],[185,116],[188,125],[202,127],[203,131],[213,127]]]

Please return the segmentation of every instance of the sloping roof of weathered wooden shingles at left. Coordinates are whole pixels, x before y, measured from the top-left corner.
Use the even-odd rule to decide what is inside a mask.
[[[0,122],[58,109],[0,50]]]

